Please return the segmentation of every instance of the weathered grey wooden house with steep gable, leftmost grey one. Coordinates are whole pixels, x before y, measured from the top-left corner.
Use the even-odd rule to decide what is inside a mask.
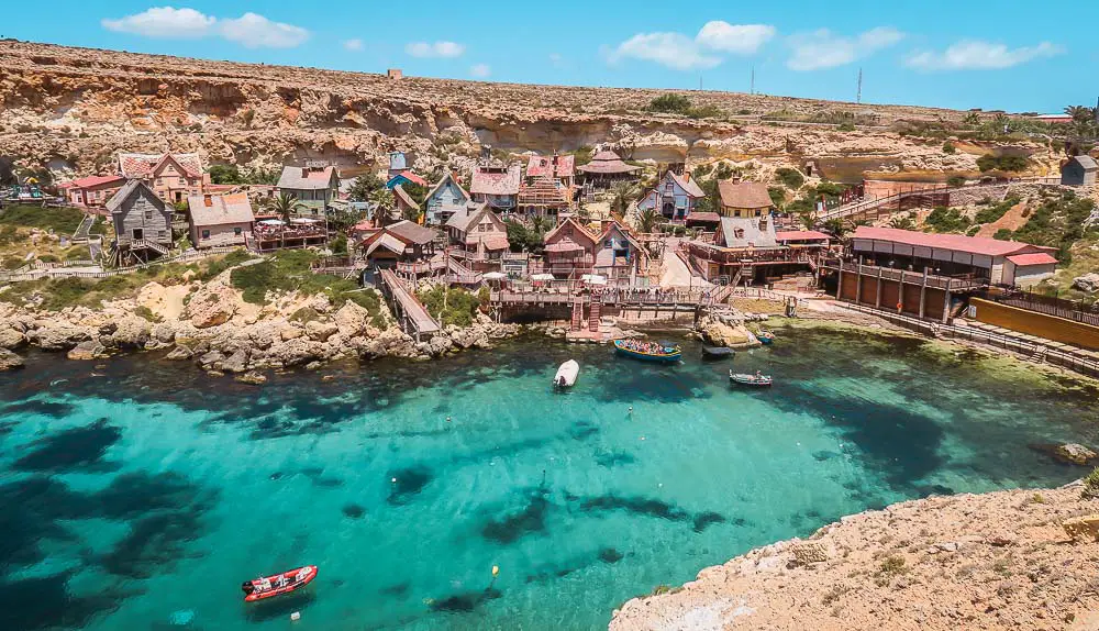
[[[173,209],[141,179],[126,182],[107,202],[114,224],[118,264],[147,262],[171,251]]]

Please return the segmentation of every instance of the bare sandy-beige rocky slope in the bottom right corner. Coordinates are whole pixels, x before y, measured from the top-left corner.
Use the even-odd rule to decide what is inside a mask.
[[[1095,512],[1079,484],[898,503],[630,600],[610,629],[1096,629],[1096,529],[1063,525]]]

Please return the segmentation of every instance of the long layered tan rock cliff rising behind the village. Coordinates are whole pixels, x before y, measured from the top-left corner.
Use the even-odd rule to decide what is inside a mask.
[[[199,152],[209,164],[274,166],[321,158],[343,167],[411,153],[417,166],[468,166],[481,144],[515,152],[610,143],[626,157],[797,164],[889,158],[893,168],[966,170],[975,156],[889,131],[899,120],[961,112],[692,91],[724,120],[652,114],[663,90],[404,78],[0,42],[0,155],[88,175],[119,151]],[[856,131],[764,122],[761,115],[848,112]],[[758,166],[758,165],[757,165]]]

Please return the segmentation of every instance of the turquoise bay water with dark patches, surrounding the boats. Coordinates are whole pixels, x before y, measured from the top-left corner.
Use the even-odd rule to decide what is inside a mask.
[[[685,344],[678,366],[537,339],[263,388],[33,355],[0,375],[0,629],[606,628],[842,514],[1063,484],[1080,469],[1028,445],[1099,443],[1095,391],[920,341]],[[731,365],[777,384],[731,388]],[[300,596],[241,601],[303,564]]]

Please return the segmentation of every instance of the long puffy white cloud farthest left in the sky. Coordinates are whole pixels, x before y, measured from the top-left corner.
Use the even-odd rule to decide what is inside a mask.
[[[102,20],[101,24],[108,31],[162,40],[220,35],[248,48],[292,48],[309,38],[309,31],[300,26],[271,22],[252,12],[236,19],[219,20],[195,9],[174,7],[154,7],[118,20]]]

